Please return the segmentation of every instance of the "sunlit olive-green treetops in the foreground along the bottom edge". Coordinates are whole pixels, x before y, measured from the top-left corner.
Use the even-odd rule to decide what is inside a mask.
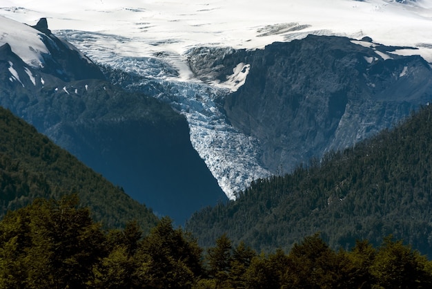
[[[103,230],[76,194],[39,198],[0,221],[0,288],[431,288],[432,262],[386,236],[332,250],[319,234],[257,253],[223,234],[206,250],[168,217]]]

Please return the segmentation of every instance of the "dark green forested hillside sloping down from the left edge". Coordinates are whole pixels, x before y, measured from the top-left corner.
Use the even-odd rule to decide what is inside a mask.
[[[54,145],[34,127],[0,108],[0,217],[35,198],[78,194],[81,205],[104,227],[136,220],[145,232],[157,223],[151,209],[132,200],[121,187]]]

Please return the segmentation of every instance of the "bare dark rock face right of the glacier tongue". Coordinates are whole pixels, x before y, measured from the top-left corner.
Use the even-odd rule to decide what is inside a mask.
[[[260,140],[268,169],[288,172],[391,127],[431,100],[429,64],[420,56],[392,54],[395,49],[310,35],[264,50],[230,51],[207,63],[217,68],[219,80],[240,62],[251,65],[244,86],[224,100],[226,115]]]

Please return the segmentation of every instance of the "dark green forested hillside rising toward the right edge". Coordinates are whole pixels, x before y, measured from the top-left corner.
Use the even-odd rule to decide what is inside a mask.
[[[432,107],[392,130],[312,160],[292,174],[256,180],[237,201],[207,207],[186,228],[202,245],[226,233],[256,250],[291,248],[321,232],[331,248],[393,234],[432,256]]]

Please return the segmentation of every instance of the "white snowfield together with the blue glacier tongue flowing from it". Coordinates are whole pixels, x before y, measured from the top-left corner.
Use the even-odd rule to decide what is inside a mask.
[[[229,198],[270,174],[259,165],[257,140],[230,127],[213,102],[242,86],[250,66],[240,63],[226,82],[204,84],[188,68],[190,48],[256,49],[308,34],[352,37],[356,44],[373,47],[360,41],[369,36],[379,44],[418,48],[395,53],[420,54],[432,62],[432,0],[3,0],[0,15],[30,25],[46,17],[56,35],[92,60],[166,87],[155,97],[186,115],[193,146]],[[40,66],[43,43],[30,28],[11,37],[13,25],[19,24],[0,17],[0,44],[10,42],[24,61]]]

